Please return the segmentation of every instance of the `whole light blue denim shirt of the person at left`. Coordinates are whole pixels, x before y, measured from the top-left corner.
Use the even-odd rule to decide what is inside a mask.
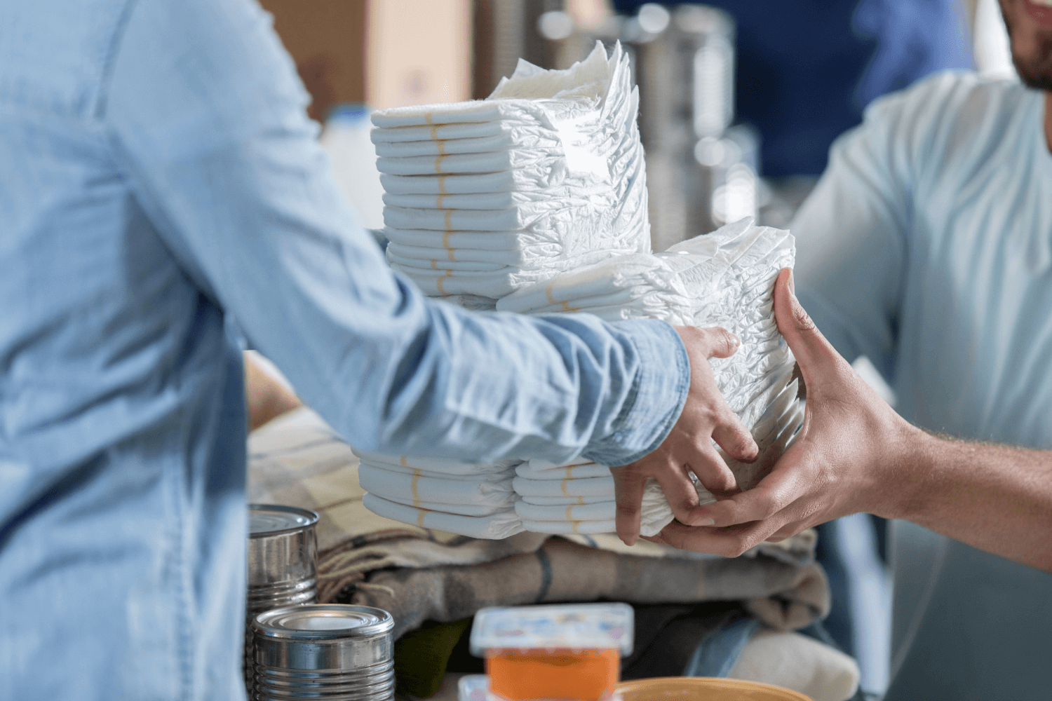
[[[623,465],[660,322],[470,314],[359,226],[250,0],[0,0],[0,699],[244,694],[234,321],[366,450]]]

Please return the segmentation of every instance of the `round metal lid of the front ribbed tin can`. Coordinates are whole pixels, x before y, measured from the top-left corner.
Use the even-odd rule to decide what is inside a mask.
[[[252,620],[252,630],[267,637],[296,640],[372,638],[393,627],[394,619],[383,609],[342,603],[274,609]]]

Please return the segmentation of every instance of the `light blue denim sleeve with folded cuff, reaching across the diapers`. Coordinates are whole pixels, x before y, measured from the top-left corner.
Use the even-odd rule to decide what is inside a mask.
[[[468,313],[387,267],[254,2],[141,0],[108,71],[128,207],[352,445],[624,465],[671,430],[690,371],[667,324]]]

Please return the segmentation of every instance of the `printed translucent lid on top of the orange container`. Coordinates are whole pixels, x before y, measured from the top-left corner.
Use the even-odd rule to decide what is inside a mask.
[[[483,609],[471,626],[471,654],[491,650],[610,650],[632,652],[627,603],[566,603]]]

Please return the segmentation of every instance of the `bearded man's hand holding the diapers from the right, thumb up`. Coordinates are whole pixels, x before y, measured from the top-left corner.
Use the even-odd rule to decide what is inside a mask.
[[[692,512],[715,528],[673,521],[658,540],[733,557],[763,540],[782,540],[839,516],[890,512],[889,491],[896,490],[888,486],[897,483],[896,474],[906,474],[910,451],[924,434],[881,399],[818,332],[792,292],[788,268],[774,285],[774,315],[807,385],[801,437],[755,488]],[[897,483],[898,490],[905,488]]]

